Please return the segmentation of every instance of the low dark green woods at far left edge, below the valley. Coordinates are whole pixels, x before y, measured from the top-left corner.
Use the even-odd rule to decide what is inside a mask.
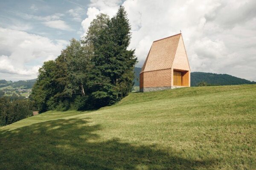
[[[9,125],[32,116],[34,102],[28,99],[0,97],[0,126]]]

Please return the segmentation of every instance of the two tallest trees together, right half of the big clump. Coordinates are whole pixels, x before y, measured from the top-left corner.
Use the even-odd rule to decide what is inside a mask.
[[[111,20],[99,14],[84,37],[84,43],[94,49],[88,75],[89,98],[94,108],[112,105],[132,90],[137,58],[134,50],[127,50],[130,30],[127,14],[120,6]]]

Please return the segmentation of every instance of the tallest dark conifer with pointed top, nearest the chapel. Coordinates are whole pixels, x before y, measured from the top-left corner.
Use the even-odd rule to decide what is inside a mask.
[[[111,80],[119,91],[119,97],[128,95],[133,87],[135,50],[127,50],[131,41],[131,26],[125,8],[120,6],[110,23],[113,56],[111,57]]]

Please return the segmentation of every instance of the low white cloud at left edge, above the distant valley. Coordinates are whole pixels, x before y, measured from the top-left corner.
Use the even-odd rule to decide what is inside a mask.
[[[67,43],[0,27],[0,79],[35,78],[39,65],[55,59]]]

